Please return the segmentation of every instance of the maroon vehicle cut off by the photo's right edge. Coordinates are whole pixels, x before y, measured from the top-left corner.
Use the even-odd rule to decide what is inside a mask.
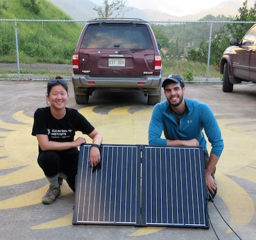
[[[250,28],[243,39],[230,39],[230,45],[223,53],[220,73],[223,76],[224,92],[232,92],[233,84],[242,81],[256,83],[256,24]]]

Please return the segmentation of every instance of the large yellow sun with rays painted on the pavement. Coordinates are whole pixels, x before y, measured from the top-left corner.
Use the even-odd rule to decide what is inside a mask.
[[[147,145],[147,130],[152,108],[130,113],[126,106],[115,108],[108,114],[93,112],[93,107],[79,110],[104,136],[104,144],[144,144]],[[218,115],[216,115],[218,116]],[[20,124],[0,121],[0,186],[7,187],[44,178],[42,169],[38,166],[38,142],[31,136],[33,119],[24,115],[23,111],[15,112],[13,119]],[[256,119],[233,118],[232,115],[221,115],[218,123],[221,127],[225,149],[217,165],[216,180],[218,195],[224,201],[230,212],[230,225],[240,229],[249,224],[254,216],[254,203],[250,195],[230,176],[256,182]],[[2,129],[2,131],[1,131]],[[78,133],[76,137],[81,136]],[[89,142],[90,138],[86,137]],[[210,149],[210,145],[208,146]],[[0,201],[0,209],[26,207],[40,204],[48,186],[22,195]],[[67,184],[61,188],[61,196],[72,192]],[[60,197],[61,197],[60,196]],[[51,222],[42,222],[31,229],[57,228],[72,225],[72,213]],[[134,236],[150,234],[162,228],[141,228]]]

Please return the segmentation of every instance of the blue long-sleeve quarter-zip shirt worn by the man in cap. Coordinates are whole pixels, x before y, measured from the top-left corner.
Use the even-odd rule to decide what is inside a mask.
[[[169,140],[191,140],[196,138],[199,145],[207,150],[204,129],[209,142],[212,144],[211,153],[220,157],[224,149],[220,127],[207,104],[197,100],[185,99],[188,113],[181,117],[180,124],[176,123],[167,100],[155,105],[148,128],[150,145],[167,145]],[[166,138],[161,138],[162,132]]]

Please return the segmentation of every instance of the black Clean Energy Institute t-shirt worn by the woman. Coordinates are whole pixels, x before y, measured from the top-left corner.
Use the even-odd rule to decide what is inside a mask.
[[[38,108],[34,114],[32,135],[46,134],[49,141],[72,142],[75,132],[79,130],[84,134],[90,134],[94,127],[77,110],[66,108],[66,114],[62,119],[52,116],[50,107]],[[39,154],[42,152],[39,146]],[[65,154],[77,153],[77,148],[61,151]]]

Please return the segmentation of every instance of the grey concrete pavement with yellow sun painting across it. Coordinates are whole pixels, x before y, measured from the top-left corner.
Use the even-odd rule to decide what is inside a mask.
[[[212,108],[225,142],[214,204],[240,238],[256,239],[256,86],[234,85],[233,93],[222,92],[221,85],[186,87],[186,98]],[[213,228],[220,239],[238,239],[213,203],[208,204],[213,224],[209,230],[73,226],[75,195],[65,181],[55,203],[41,203],[48,183],[36,162],[38,144],[31,128],[36,108],[46,106],[46,82],[1,81],[0,89],[1,239],[217,239]],[[71,82],[69,90],[68,107],[85,115],[103,134],[105,144],[147,144],[152,106],[141,92],[94,92],[88,105],[77,105]]]

